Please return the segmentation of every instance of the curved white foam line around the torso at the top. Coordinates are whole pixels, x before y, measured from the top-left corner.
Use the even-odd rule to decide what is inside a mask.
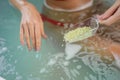
[[[53,7],[49,6],[49,5],[46,3],[46,0],[44,0],[44,5],[45,5],[48,9],[55,10],[55,11],[75,12],[75,11],[80,11],[80,10],[84,10],[84,9],[86,9],[86,8],[91,7],[91,6],[93,5],[93,0],[91,0],[89,3],[86,3],[86,4],[83,5],[83,6],[80,6],[80,7],[75,8],[75,9],[53,8]]]

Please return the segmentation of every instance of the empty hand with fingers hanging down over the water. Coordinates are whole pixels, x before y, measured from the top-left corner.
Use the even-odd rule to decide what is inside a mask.
[[[41,47],[41,37],[46,38],[41,16],[37,9],[30,3],[23,6],[20,11],[22,14],[20,42],[24,45],[25,39],[29,50],[31,50],[33,46],[33,48],[38,51]]]

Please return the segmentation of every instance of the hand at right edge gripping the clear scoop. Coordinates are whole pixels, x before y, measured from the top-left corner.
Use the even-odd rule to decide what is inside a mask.
[[[113,6],[99,17],[100,23],[111,25],[120,21],[120,0],[116,0]]]

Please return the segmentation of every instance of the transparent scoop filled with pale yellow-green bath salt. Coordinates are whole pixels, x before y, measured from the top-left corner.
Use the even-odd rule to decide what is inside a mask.
[[[86,19],[74,25],[76,27],[64,35],[66,42],[72,43],[92,37],[99,28],[99,21],[95,17]]]

